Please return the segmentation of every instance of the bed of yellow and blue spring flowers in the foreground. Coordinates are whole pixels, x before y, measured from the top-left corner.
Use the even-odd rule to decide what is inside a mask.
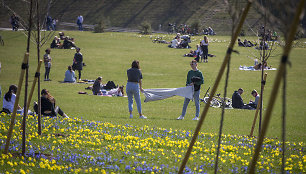
[[[114,125],[79,118],[42,118],[29,115],[26,155],[21,153],[22,116],[17,115],[9,154],[3,154],[10,116],[0,115],[0,173],[177,173],[193,132],[156,127]],[[214,171],[216,134],[201,132],[184,173]],[[218,171],[246,173],[256,139],[223,135]],[[306,172],[303,142],[286,142],[288,173]],[[279,173],[282,143],[265,139],[256,173]]]

